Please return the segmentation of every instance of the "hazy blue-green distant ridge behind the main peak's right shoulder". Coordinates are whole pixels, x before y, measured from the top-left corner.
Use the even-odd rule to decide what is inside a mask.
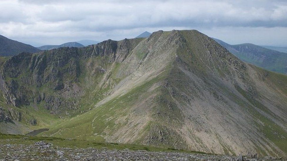
[[[213,39],[245,62],[266,70],[287,74],[287,53],[270,50],[250,43],[230,45],[221,40]]]

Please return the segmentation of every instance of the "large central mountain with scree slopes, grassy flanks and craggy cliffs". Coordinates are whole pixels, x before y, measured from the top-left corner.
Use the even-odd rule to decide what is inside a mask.
[[[0,62],[2,133],[287,156],[287,76],[196,30]]]

